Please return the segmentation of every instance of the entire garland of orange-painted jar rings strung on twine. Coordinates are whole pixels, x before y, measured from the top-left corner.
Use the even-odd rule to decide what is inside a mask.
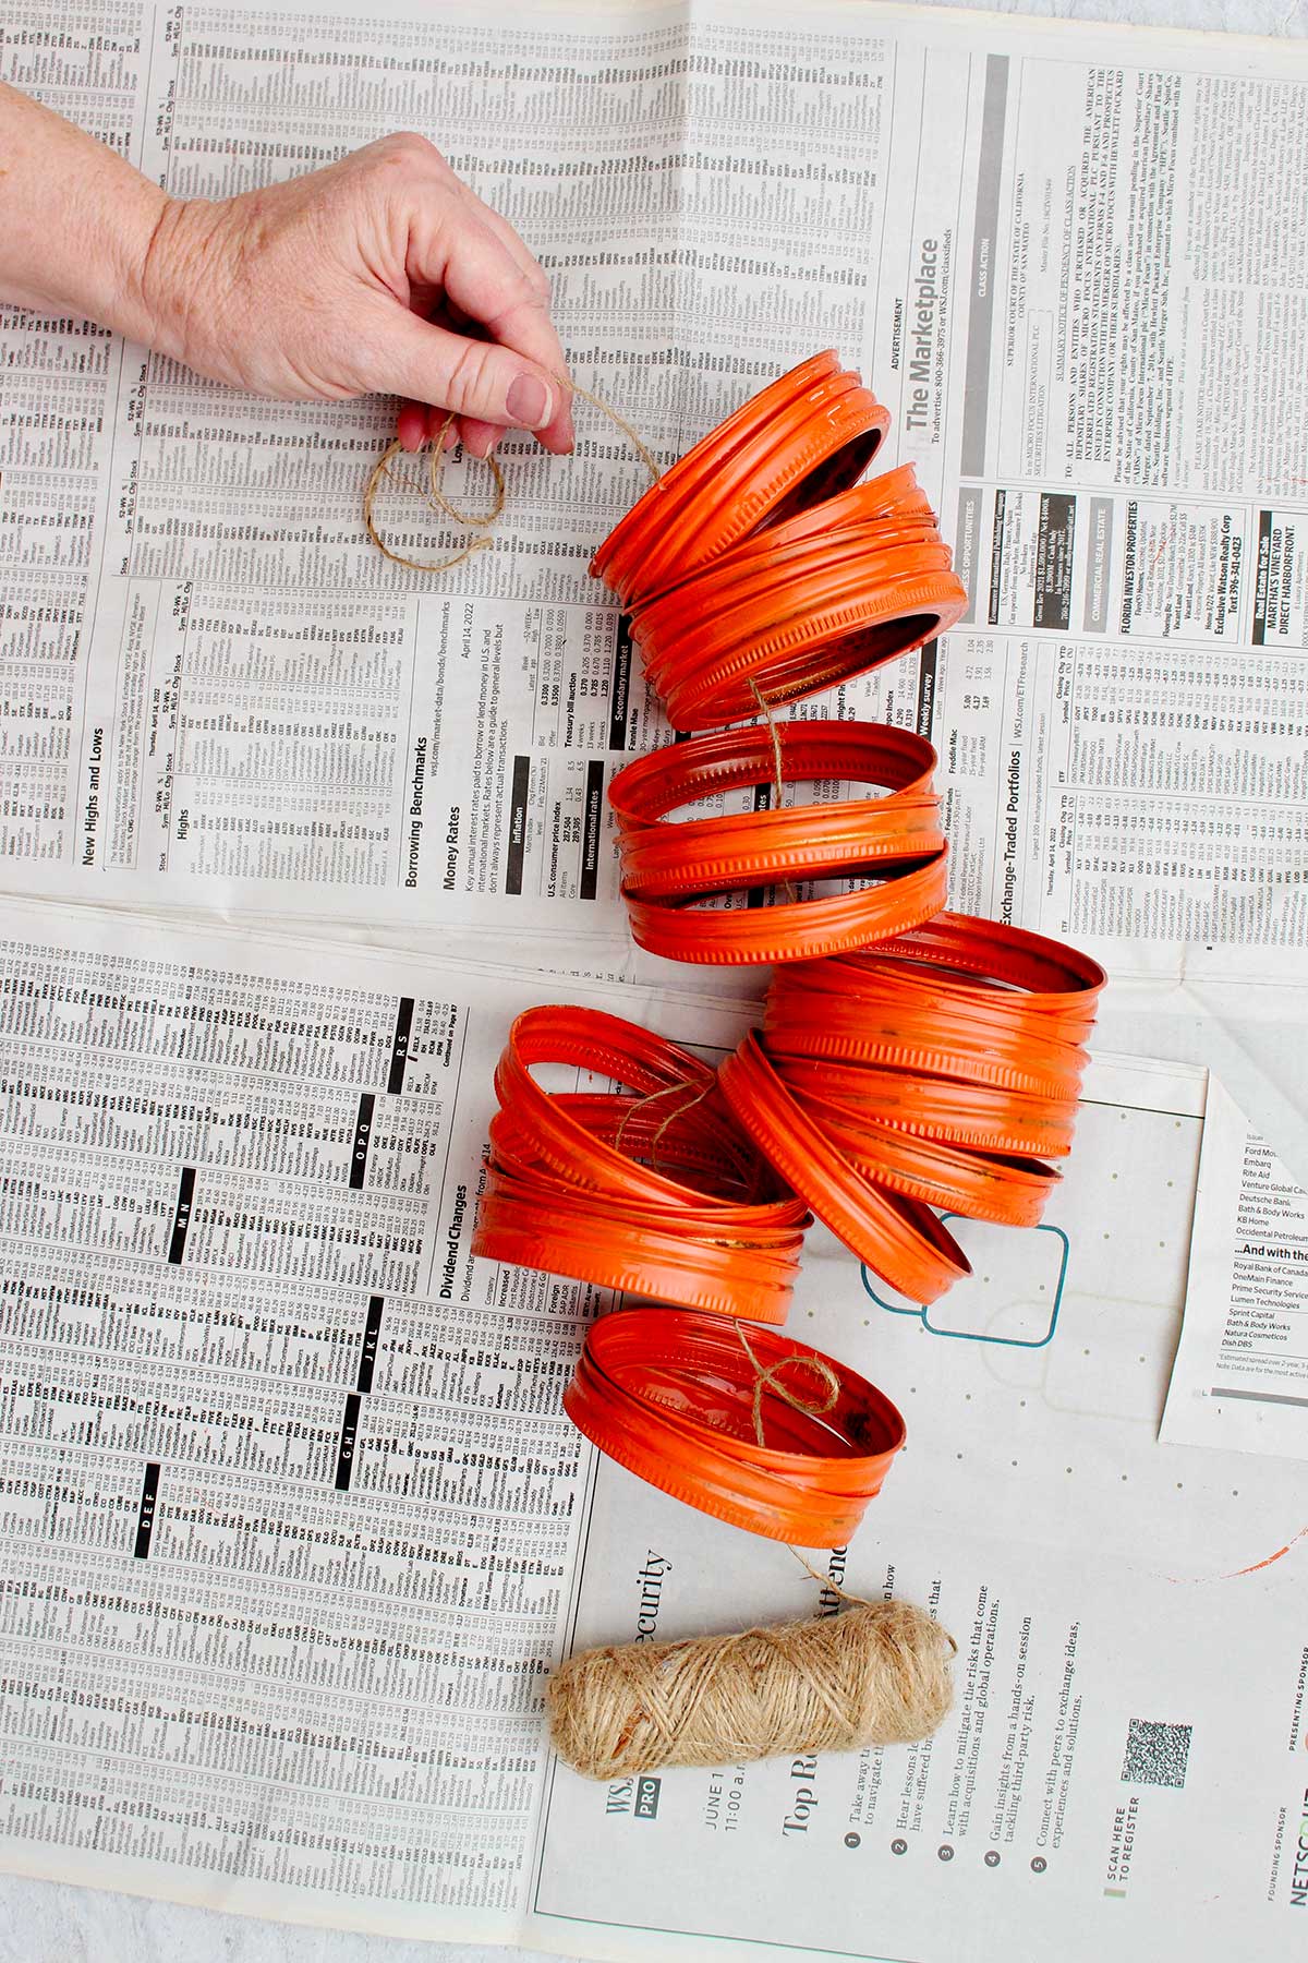
[[[759,716],[961,616],[912,467],[857,483],[888,422],[857,375],[816,355],[696,444],[600,546],[592,571],[629,610],[675,728]],[[775,964],[765,1031],[714,1076],[612,1017],[600,1038],[590,1011],[533,1011],[496,1076],[475,1250],[684,1305],[592,1325],[569,1413],[655,1486],[808,1547],[849,1537],[904,1423],[855,1372],[759,1327],[784,1319],[806,1205],[906,1298],[933,1301],[969,1272],[935,1209],[1039,1219],[1104,985],[1055,942],[941,913],[933,768],[902,730],[771,716],[629,764],[610,801],[635,940],[673,960]],[[718,793],[800,781],[884,795],[667,822]],[[761,903],[816,879],[843,891]],[[637,1097],[551,1099],[528,1072],[545,1060]],[[788,1190],[761,1186],[763,1168]]]

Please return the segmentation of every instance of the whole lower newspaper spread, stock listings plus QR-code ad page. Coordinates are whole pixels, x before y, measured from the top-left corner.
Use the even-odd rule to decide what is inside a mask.
[[[814,1561],[951,1629],[937,1739],[610,1788],[547,1755],[565,1647],[839,1598],[573,1431],[608,1298],[469,1256],[539,980],[12,903],[0,948],[0,1865],[600,1957],[1284,1955],[1302,1476],[1155,1443],[1202,1072],[1094,1062],[1045,1225],[961,1223],[930,1313],[810,1239],[790,1327],[910,1427]]]

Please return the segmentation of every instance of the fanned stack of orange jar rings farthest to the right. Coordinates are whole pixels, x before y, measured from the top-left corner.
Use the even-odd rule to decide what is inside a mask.
[[[930,1303],[969,1272],[935,1215],[1031,1227],[1071,1150],[1104,972],[941,913],[779,968],[763,1036],[718,1074],[759,1150],[882,1280]]]

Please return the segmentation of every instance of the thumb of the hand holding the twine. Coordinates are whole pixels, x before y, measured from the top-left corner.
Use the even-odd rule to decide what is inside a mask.
[[[363,379],[378,395],[410,397],[512,430],[543,430],[563,393],[512,347],[467,340],[402,306],[388,314],[386,332],[365,367]]]

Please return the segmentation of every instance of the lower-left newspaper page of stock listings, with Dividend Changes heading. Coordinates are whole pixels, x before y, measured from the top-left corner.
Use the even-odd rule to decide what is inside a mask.
[[[4,1861],[506,1941],[590,1457],[592,1292],[469,1256],[541,982],[253,948],[2,915]]]

